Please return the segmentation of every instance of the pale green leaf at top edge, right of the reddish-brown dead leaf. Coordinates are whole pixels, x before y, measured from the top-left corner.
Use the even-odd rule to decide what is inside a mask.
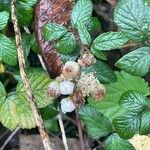
[[[93,11],[93,4],[91,0],[78,0],[74,6],[71,14],[71,23],[74,27],[78,23],[86,23],[90,20]]]

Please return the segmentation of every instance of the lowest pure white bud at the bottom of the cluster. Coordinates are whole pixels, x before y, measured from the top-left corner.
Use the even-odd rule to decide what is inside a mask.
[[[76,106],[70,98],[64,98],[61,100],[61,110],[63,113],[72,112],[75,108]]]

